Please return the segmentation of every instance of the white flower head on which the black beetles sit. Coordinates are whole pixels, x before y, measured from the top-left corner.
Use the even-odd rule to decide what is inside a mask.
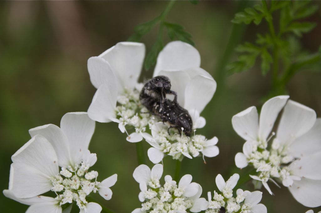
[[[139,94],[143,84],[138,83],[138,78],[144,56],[144,44],[121,42],[88,59],[91,83],[97,88],[88,109],[89,117],[98,122],[117,122],[121,132],[128,135],[126,139],[129,142],[147,138],[153,146],[149,150],[153,163],[160,162],[165,154],[180,160],[183,156],[192,158],[199,153],[207,157],[216,156],[219,153],[217,146],[214,146],[218,140],[216,137],[211,140],[195,134],[191,138],[185,135],[179,137],[178,131],[173,129],[170,134],[147,133],[159,128],[167,131],[169,126],[158,123],[160,119],[140,104]],[[174,41],[160,52],[153,74],[169,77],[171,89],[177,92],[179,105],[187,109],[192,117],[193,130],[204,127],[205,119],[200,113],[216,90],[216,82],[200,68],[200,63],[199,52],[193,46]],[[130,129],[132,132],[128,132]]]

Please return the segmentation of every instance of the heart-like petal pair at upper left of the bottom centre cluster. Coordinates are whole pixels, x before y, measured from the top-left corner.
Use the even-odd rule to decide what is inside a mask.
[[[151,170],[148,166],[142,164],[134,170],[133,177],[139,184],[145,183],[145,185],[149,185],[152,188],[159,188],[159,180],[162,174],[163,165],[155,164]]]

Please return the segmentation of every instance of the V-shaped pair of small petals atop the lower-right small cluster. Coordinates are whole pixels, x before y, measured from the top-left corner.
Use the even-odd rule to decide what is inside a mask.
[[[239,180],[239,174],[232,175],[226,182],[224,178],[218,174],[215,178],[215,183],[220,192],[223,193],[225,198],[231,198],[233,196],[232,189],[236,186]]]

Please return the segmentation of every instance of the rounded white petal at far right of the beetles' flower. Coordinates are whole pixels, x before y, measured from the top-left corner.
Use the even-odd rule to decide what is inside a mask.
[[[186,85],[184,108],[187,110],[196,109],[202,112],[205,106],[213,98],[216,90],[214,79],[196,75]]]

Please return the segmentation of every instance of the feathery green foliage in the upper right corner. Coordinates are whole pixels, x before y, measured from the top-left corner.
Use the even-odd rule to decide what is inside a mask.
[[[269,4],[269,5],[268,5]],[[289,80],[287,75],[291,76],[298,70],[307,67],[307,64],[320,64],[318,54],[305,54],[304,62],[298,63],[302,58],[302,51],[298,39],[303,33],[310,32],[316,27],[316,23],[300,21],[317,12],[318,6],[311,5],[310,1],[262,1],[262,4],[256,4],[253,8],[246,8],[243,12],[235,14],[233,23],[260,24],[265,19],[269,33],[265,35],[257,34],[254,43],[245,42],[236,48],[241,53],[237,61],[228,65],[230,73],[237,73],[249,70],[260,58],[260,67],[262,75],[266,75],[273,69],[273,84],[284,84]],[[273,17],[279,12],[279,30],[275,31]],[[277,20],[277,19],[275,19]],[[260,57],[258,57],[260,56]],[[279,63],[281,62],[281,63]],[[301,66],[301,64],[304,66]],[[273,64],[273,68],[271,66]],[[279,78],[279,69],[283,69],[283,76]],[[293,71],[295,69],[296,71]],[[283,81],[282,79],[286,79]]]

